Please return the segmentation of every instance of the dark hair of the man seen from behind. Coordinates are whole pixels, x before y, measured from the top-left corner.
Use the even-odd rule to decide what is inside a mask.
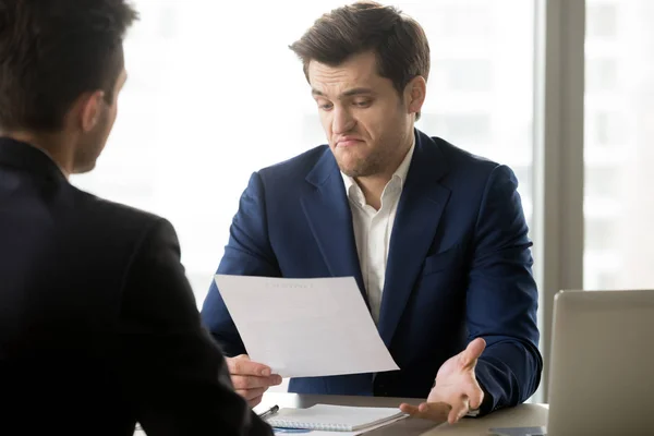
[[[86,92],[111,104],[135,20],[125,0],[0,0],[0,128],[57,131]]]

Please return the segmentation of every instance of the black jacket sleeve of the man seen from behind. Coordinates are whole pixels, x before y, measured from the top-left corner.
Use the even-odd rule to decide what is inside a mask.
[[[233,391],[225,359],[201,324],[172,226],[144,235],[119,315],[125,400],[148,435],[270,435]]]

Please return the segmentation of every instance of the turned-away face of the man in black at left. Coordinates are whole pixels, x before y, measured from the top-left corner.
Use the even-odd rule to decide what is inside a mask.
[[[128,74],[123,69],[113,87],[111,105],[109,105],[105,98],[100,98],[96,102],[97,107],[95,110],[97,111],[97,121],[95,122],[94,128],[80,138],[80,144],[75,153],[73,170],[75,173],[88,172],[95,168],[96,160],[107,144],[109,133],[111,133],[116,117],[118,116],[118,97],[126,78]]]

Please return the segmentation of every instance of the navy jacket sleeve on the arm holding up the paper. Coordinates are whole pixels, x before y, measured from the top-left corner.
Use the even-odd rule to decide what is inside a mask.
[[[241,195],[239,210],[232,220],[229,242],[217,274],[281,277],[268,238],[264,185],[256,172],[252,174]],[[246,353],[214,280],[204,301],[202,317],[227,355]]]

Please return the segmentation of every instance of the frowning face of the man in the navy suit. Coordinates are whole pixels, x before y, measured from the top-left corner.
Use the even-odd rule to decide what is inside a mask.
[[[311,61],[308,82],[341,171],[353,178],[395,171],[413,136],[413,114],[407,97],[378,75],[375,55],[338,66]]]

